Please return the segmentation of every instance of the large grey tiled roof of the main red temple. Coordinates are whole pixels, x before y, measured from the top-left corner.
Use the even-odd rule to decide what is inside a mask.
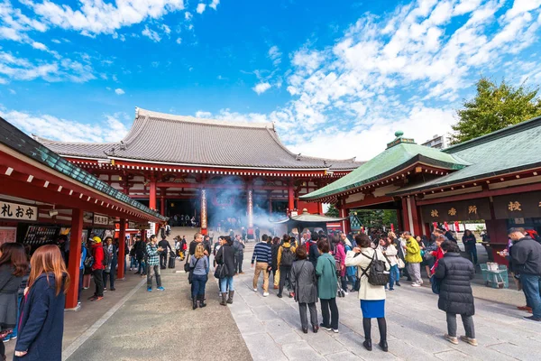
[[[174,116],[141,108],[136,108],[132,129],[118,143],[36,140],[63,156],[93,159],[312,171],[352,171],[362,164],[291,153],[272,123]]]

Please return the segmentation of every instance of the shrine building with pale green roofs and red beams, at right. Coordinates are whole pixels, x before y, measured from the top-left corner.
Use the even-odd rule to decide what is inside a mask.
[[[399,229],[416,236],[445,222],[484,221],[496,251],[508,245],[509,227],[541,233],[541,117],[443,151],[395,135],[385,151],[300,199],[335,203],[341,217],[353,209],[396,209]]]

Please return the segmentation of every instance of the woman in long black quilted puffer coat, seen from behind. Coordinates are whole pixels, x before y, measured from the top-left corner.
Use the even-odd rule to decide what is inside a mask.
[[[460,339],[472,346],[477,346],[472,318],[475,314],[475,306],[470,283],[475,276],[475,269],[470,260],[461,257],[460,249],[453,241],[445,241],[441,247],[445,255],[438,261],[434,275],[440,282],[437,307],[445,310],[447,314],[447,333],[444,337],[452,344],[458,344],[456,315],[460,314],[466,330],[466,336],[461,336]]]

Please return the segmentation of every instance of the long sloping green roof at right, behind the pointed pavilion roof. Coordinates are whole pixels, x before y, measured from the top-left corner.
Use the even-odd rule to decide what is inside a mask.
[[[445,149],[472,165],[393,195],[448,186],[541,166],[541,116]]]

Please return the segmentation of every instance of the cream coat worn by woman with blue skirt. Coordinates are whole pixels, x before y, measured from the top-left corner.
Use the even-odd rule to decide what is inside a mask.
[[[378,259],[385,262],[385,269],[390,270],[390,264],[383,256],[380,250],[375,250],[373,248],[361,248],[361,253],[368,255],[370,258],[367,258],[363,255],[357,255],[353,251],[349,251],[345,255],[345,265],[346,266],[357,266],[357,276],[362,274],[360,268],[365,269],[366,273],[370,273],[370,270],[367,270],[368,265],[371,262],[371,257],[374,255],[374,252],[378,253]],[[359,300],[385,300],[385,287],[384,286],[374,286],[368,282],[368,277],[362,275],[361,278],[361,289],[359,290]]]

